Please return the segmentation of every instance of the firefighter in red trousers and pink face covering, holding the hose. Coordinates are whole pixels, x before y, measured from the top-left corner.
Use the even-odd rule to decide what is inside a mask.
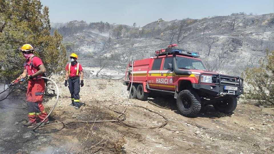
[[[27,77],[28,89],[27,89],[27,106],[29,112],[29,121],[23,123],[24,125],[36,125],[37,120],[40,122],[45,119],[47,112],[42,104],[43,95],[45,91],[45,81],[42,76],[46,72],[46,68],[40,58],[34,56],[34,48],[31,44],[24,44],[21,51],[26,58],[24,64],[23,73],[13,82],[18,82],[20,79]],[[49,119],[46,119],[42,125],[48,124]]]

